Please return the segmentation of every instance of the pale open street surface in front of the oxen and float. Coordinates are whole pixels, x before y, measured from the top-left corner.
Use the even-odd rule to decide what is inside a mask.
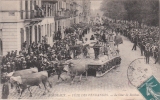
[[[90,38],[92,32],[85,37]],[[78,82],[79,77],[75,78],[75,83],[70,85],[71,79],[63,73],[62,77],[66,78],[65,81],[57,82],[57,76],[49,78],[52,82],[52,88],[49,88],[50,92],[43,95],[44,87],[31,87],[32,97],[29,97],[29,91],[26,90],[22,99],[54,99],[54,100],[145,100],[144,97],[138,92],[138,89],[132,86],[128,82],[127,69],[129,64],[137,59],[143,58],[140,54],[139,48],[136,51],[132,51],[133,44],[125,37],[123,38],[123,44],[119,45],[120,56],[122,58],[120,67],[113,69],[103,77],[96,78],[89,76],[87,79],[82,77],[82,81]],[[93,53],[93,50],[90,51]],[[145,64],[145,63],[144,63]],[[153,72],[153,75],[160,82],[160,66],[154,64],[154,59],[151,58],[149,66]],[[1,94],[0,94],[1,96]],[[10,89],[9,99],[18,99],[19,94],[15,89]]]

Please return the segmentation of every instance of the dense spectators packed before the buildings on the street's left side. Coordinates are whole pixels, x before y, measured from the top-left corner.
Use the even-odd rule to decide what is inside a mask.
[[[75,30],[73,33],[66,32],[65,37],[57,38],[53,45],[47,43],[47,36],[42,36],[42,42],[32,42],[27,44],[22,43],[22,49],[8,52],[2,57],[1,74],[2,76],[17,70],[29,69],[37,67],[39,71],[47,70],[55,66],[52,62],[62,62],[72,59],[81,50],[72,48],[71,46],[78,45],[77,41],[83,41],[88,28]],[[72,57],[72,53],[74,56]],[[3,81],[2,81],[3,82]]]

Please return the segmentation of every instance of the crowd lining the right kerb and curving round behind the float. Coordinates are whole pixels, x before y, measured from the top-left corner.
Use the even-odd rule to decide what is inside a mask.
[[[133,48],[131,50],[137,50],[137,46],[140,48],[141,56],[145,56],[147,64],[149,64],[150,57],[155,59],[155,64],[159,61],[159,27],[147,26],[144,24],[140,25],[135,21],[112,20],[108,18],[102,20],[103,23],[96,24],[98,28],[95,27],[93,29],[93,31],[101,31],[100,41],[106,40],[106,33],[108,34],[108,32],[121,34],[133,43]],[[94,37],[92,36],[92,38]],[[115,42],[114,45],[116,45]]]

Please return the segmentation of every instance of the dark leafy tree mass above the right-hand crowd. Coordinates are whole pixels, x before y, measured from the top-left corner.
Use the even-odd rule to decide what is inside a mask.
[[[103,0],[104,16],[138,21],[151,26],[159,23],[159,0]]]

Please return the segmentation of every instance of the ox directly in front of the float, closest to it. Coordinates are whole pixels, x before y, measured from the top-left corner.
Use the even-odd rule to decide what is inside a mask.
[[[64,70],[66,70],[69,73],[69,75],[70,75],[70,77],[72,79],[71,84],[73,84],[75,76],[80,76],[79,77],[79,81],[81,81],[82,75],[84,73],[86,74],[86,79],[87,79],[87,70],[88,70],[87,66],[75,66],[75,64],[70,62],[68,64],[68,66],[64,68]]]

